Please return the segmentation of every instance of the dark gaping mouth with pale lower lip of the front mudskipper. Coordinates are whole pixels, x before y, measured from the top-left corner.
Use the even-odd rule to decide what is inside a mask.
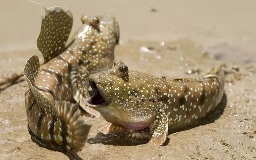
[[[84,99],[84,104],[89,107],[103,107],[108,105],[108,101],[102,91],[102,88],[100,86],[97,87],[96,83],[92,79],[90,79],[90,86],[94,91],[94,95]]]

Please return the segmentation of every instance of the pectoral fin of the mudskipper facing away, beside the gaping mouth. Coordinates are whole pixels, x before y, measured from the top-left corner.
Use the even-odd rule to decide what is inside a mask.
[[[82,100],[90,97],[88,88],[90,88],[89,84],[89,72],[86,67],[80,65],[78,67],[74,67],[71,71],[71,87],[74,99],[77,103],[79,103],[80,107],[93,116],[100,116],[100,113],[91,107],[86,106]]]

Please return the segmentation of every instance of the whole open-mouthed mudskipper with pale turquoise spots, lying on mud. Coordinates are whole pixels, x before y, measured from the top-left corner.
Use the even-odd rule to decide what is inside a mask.
[[[128,70],[122,61],[115,64],[90,76],[92,88],[105,104],[97,104],[94,97],[84,103],[99,111],[111,125],[129,130],[150,127],[149,142],[154,145],[164,143],[168,128],[185,127],[209,115],[224,94],[221,65],[197,78],[169,79]]]

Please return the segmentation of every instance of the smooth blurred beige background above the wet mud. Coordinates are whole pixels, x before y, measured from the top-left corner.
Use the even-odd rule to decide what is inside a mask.
[[[234,62],[256,60],[255,0],[37,0],[47,8],[67,6],[72,32],[80,16],[111,14],[121,40],[172,41],[188,38],[218,57]],[[41,6],[29,0],[0,1],[0,52],[36,48]],[[239,59],[236,56],[243,54]]]

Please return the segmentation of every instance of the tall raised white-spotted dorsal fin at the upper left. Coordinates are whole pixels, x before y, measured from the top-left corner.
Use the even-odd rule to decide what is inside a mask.
[[[61,7],[42,7],[45,14],[42,14],[41,30],[36,43],[46,63],[66,49],[73,16],[69,10],[64,11]]]

